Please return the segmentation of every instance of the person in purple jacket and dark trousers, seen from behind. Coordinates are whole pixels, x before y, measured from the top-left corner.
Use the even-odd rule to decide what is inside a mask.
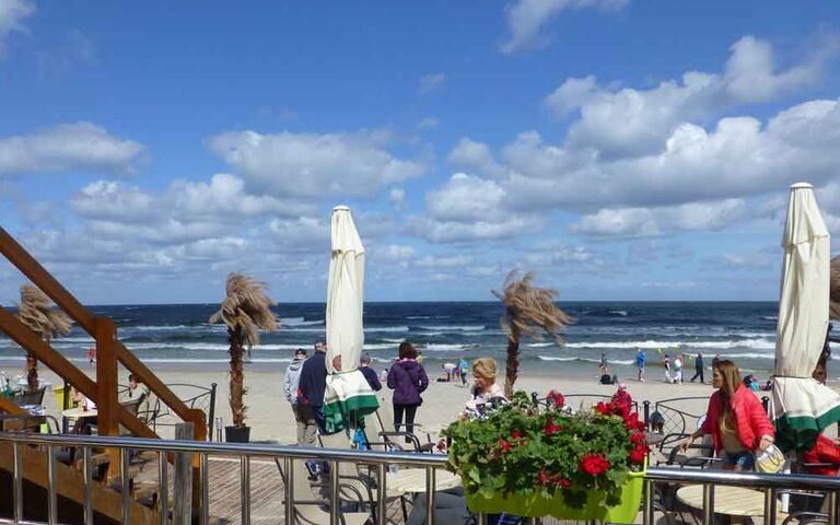
[[[423,365],[417,362],[417,350],[408,342],[399,345],[399,360],[388,370],[388,388],[394,390],[394,430],[415,432],[415,415],[423,399],[420,394],[429,386],[429,377]]]

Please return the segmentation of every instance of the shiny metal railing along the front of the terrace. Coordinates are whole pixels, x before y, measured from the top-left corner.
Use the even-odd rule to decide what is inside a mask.
[[[242,523],[250,523],[250,482],[249,469],[250,458],[255,456],[272,457],[283,465],[284,470],[284,501],[295,502],[293,495],[294,479],[293,460],[315,459],[325,462],[330,466],[329,472],[329,516],[331,524],[340,523],[340,491],[339,491],[339,464],[351,463],[354,465],[366,465],[373,467],[376,472],[377,490],[376,501],[372,501],[372,510],[376,516],[376,523],[384,525],[388,523],[386,516],[386,497],[387,497],[387,477],[389,465],[418,467],[425,470],[425,522],[435,523],[435,475],[436,470],[445,468],[447,457],[444,455],[417,454],[417,453],[381,453],[357,450],[339,448],[313,448],[284,445],[264,445],[256,443],[236,444],[236,443],[211,443],[198,441],[166,441],[139,438],[102,438],[102,436],[70,436],[70,435],[49,435],[49,434],[27,434],[0,432],[0,444],[11,443],[14,453],[13,464],[13,518],[0,518],[0,523],[57,523],[57,483],[56,481],[56,452],[62,446],[73,446],[82,450],[82,471],[84,475],[84,499],[83,515],[84,523],[93,523],[93,483],[91,477],[92,470],[92,450],[93,448],[116,448],[119,451],[120,481],[121,487],[130,486],[129,479],[129,450],[130,451],[152,451],[159,454],[159,482],[161,497],[164,502],[161,512],[161,524],[168,524],[168,512],[166,509],[168,479],[167,479],[167,454],[184,453],[198,455],[200,465],[200,505],[199,523],[207,525],[210,522],[210,501],[209,501],[209,457],[210,456],[236,456],[240,458],[240,505],[242,511]],[[48,459],[48,485],[47,488],[47,522],[24,522],[23,513],[23,447],[28,445],[42,445],[47,450]],[[278,476],[280,472],[278,472]],[[307,480],[300,480],[307,482]],[[677,468],[649,468],[645,474],[644,499],[642,505],[642,517],[645,525],[654,523],[654,510],[657,508],[655,501],[655,486],[658,483],[670,485],[701,485],[703,487],[703,505],[698,509],[702,513],[702,523],[712,525],[714,523],[714,491],[718,486],[737,486],[763,490],[765,492],[765,523],[777,524],[777,497],[782,490],[803,490],[824,492],[828,499],[827,523],[837,523],[840,517],[837,514],[838,492],[840,491],[840,478],[826,476],[804,476],[804,475],[770,475],[752,472],[732,472],[723,470],[693,470]],[[122,523],[130,523],[131,520],[131,500],[130,491],[122,490]],[[189,501],[184,502],[189,509]],[[661,509],[661,508],[660,508]],[[667,511],[666,511],[667,512]],[[298,523],[295,518],[294,504],[284,505],[284,517],[287,524]],[[479,515],[478,523],[485,523],[486,516]],[[175,518],[175,523],[180,523]]]

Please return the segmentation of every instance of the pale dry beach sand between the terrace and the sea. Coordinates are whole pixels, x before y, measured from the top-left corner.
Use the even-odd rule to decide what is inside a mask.
[[[9,373],[7,368],[7,373]],[[93,373],[93,369],[88,370]],[[265,441],[277,443],[294,443],[295,423],[292,417],[292,410],[283,396],[283,372],[284,368],[277,366],[273,370],[266,370],[264,366],[248,365],[245,374],[247,395],[245,404],[248,407],[246,412],[246,422],[252,427],[252,441]],[[600,385],[595,380],[595,372],[591,377],[563,377],[563,376],[536,376],[520,377],[515,388],[527,393],[537,392],[540,397],[550,389],[569,396],[574,394],[591,394],[609,396],[616,392],[611,385]],[[223,419],[224,424],[231,422],[231,410],[228,402],[228,373],[222,370],[202,370],[196,368],[187,369],[160,369],[155,373],[167,384],[190,383],[195,385],[210,386],[211,383],[218,384],[218,395],[215,404],[215,415]],[[56,384],[56,376],[50,371],[42,368],[42,378]],[[418,409],[416,421],[423,424],[423,428],[430,431],[436,438],[438,432],[445,428],[451,421],[454,421],[458,413],[464,409],[464,402],[468,397],[468,388],[458,386],[455,383],[440,383],[431,376],[431,384],[423,393],[423,405]],[[500,385],[503,383],[500,381]],[[639,401],[640,417],[642,416],[642,401],[651,401],[651,412],[654,410],[656,401],[674,398],[697,398],[678,401],[680,410],[689,413],[700,415],[705,411],[708,398],[712,394],[711,385],[698,383],[684,383],[681,385],[669,385],[663,380],[649,380],[640,383],[635,380],[626,380],[630,395]],[[127,383],[127,373],[121,374],[120,383]],[[832,385],[838,387],[837,382]],[[387,388],[387,387],[385,387]],[[767,395],[768,393],[760,393]],[[597,400],[597,399],[595,399]],[[583,399],[569,398],[568,402],[573,408],[579,408]],[[45,397],[45,406],[48,413],[59,416],[56,396],[48,393]],[[592,398],[585,400],[592,404]],[[60,417],[59,417],[60,420]],[[172,418],[164,419],[162,422],[174,422]],[[159,428],[159,433],[163,438],[170,438],[173,430],[171,427],[163,425]]]

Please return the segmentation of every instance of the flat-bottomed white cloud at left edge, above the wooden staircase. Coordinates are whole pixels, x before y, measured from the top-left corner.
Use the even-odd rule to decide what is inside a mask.
[[[130,174],[142,151],[142,144],[118,139],[100,126],[61,124],[0,139],[0,176],[68,170]]]

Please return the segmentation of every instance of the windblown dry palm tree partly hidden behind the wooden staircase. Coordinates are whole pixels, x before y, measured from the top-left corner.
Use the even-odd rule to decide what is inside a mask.
[[[21,287],[18,318],[37,334],[47,346],[54,337],[69,334],[70,326],[73,324],[70,316],[56,310],[46,293],[32,284]],[[26,383],[30,390],[38,389],[38,360],[32,352],[26,354]]]

